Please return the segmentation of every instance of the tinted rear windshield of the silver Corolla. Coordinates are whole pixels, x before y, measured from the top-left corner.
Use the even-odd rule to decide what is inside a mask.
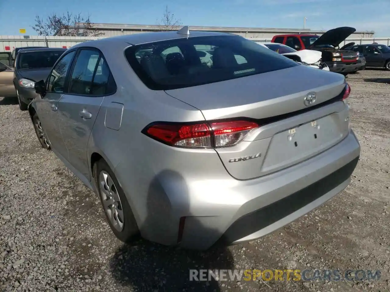
[[[299,66],[239,36],[207,36],[131,46],[125,56],[146,86],[169,90]]]

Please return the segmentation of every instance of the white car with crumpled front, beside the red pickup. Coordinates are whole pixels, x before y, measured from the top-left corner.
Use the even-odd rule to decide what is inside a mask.
[[[309,67],[322,69],[329,71],[329,67],[321,61],[322,53],[314,50],[301,50],[297,51],[284,44],[278,44],[276,42],[256,42],[260,46],[267,47],[280,55],[286,56],[298,63],[305,64]]]

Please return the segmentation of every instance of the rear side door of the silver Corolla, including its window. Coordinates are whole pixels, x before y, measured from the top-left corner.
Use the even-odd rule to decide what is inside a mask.
[[[95,49],[81,49],[69,78],[67,93],[60,99],[60,131],[69,150],[68,162],[89,178],[87,146],[100,105],[106,94],[110,70]]]

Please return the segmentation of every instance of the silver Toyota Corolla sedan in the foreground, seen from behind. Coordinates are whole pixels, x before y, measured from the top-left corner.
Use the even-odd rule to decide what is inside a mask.
[[[99,195],[124,242],[256,239],[346,188],[360,155],[344,76],[238,35],[83,42],[35,89],[39,141]]]

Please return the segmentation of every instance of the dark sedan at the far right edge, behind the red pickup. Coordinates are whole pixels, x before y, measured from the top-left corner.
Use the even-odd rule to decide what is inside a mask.
[[[390,47],[381,44],[364,44],[347,47],[348,50],[362,53],[366,67],[385,68],[390,71]]]

